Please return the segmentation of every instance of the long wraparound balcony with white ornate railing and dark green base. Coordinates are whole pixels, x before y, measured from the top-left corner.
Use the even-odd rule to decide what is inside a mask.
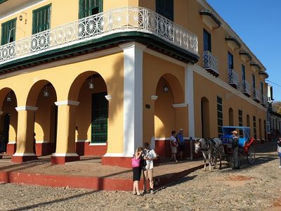
[[[196,63],[199,58],[195,34],[155,11],[126,7],[98,13],[0,46],[0,70],[4,66],[15,66],[17,61],[20,65],[22,60],[26,65],[27,58],[38,58],[41,63],[44,59],[53,58],[50,55],[71,56],[78,51],[108,48],[110,44],[118,46],[124,41],[139,41],[187,63]],[[6,65],[12,61],[13,65]]]

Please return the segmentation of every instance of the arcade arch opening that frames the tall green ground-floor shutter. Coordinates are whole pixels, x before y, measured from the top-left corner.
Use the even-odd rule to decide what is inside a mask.
[[[93,87],[90,87],[90,84]],[[70,87],[68,100],[78,101],[76,108],[76,138],[93,143],[106,143],[108,132],[108,101],[105,79],[96,71],[78,75]],[[84,150],[79,155],[84,155]]]

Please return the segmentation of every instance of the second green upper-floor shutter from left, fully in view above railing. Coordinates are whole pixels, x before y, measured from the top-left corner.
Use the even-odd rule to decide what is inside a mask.
[[[32,13],[32,34],[50,29],[51,4],[38,8]]]

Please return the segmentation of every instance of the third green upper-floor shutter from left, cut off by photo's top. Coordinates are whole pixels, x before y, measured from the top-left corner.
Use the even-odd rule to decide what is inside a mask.
[[[79,0],[79,19],[103,12],[103,0]]]

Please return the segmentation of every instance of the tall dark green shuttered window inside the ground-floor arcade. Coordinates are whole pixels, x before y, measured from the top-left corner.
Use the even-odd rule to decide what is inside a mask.
[[[105,143],[107,141],[108,102],[107,92],[92,95],[91,142]]]

